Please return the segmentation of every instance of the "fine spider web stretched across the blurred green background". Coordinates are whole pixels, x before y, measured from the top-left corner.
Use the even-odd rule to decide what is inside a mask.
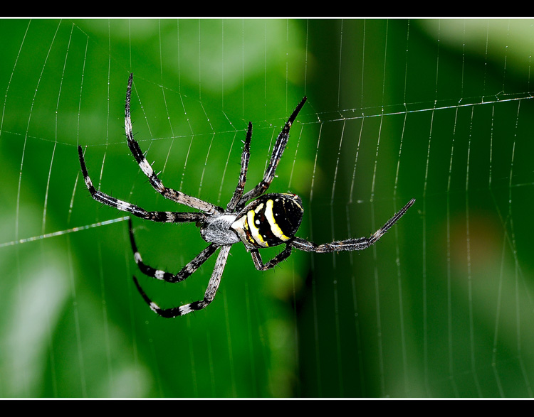
[[[1,396],[533,396],[533,21],[0,30]],[[306,95],[270,189],[303,197],[300,237],[364,236],[417,201],[361,253],[295,253],[260,273],[236,245],[209,308],[159,318],[132,274],[180,305],[214,260],[174,286],[140,276],[127,217],[90,198],[76,151],[103,192],[181,210],[125,145],[129,72],[136,139],[170,187],[226,205],[249,120],[256,185]],[[177,272],[206,245],[192,225],[134,223],[157,268]]]

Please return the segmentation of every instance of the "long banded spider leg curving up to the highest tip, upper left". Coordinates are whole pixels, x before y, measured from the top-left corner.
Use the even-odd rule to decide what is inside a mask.
[[[181,191],[165,187],[162,181],[158,178],[157,173],[155,173],[155,171],[152,169],[152,166],[150,166],[150,163],[148,163],[147,159],[145,158],[145,155],[142,153],[139,143],[137,143],[137,141],[133,137],[132,119],[130,118],[130,97],[132,94],[132,80],[133,74],[130,74],[130,77],[128,78],[128,87],[126,90],[125,105],[126,137],[128,141],[128,147],[130,148],[130,151],[132,152],[135,161],[141,168],[142,172],[147,175],[147,178],[150,181],[152,187],[159,194],[163,195],[169,200],[179,202],[180,204],[187,205],[198,210],[202,210],[207,214],[213,214],[214,212],[222,212],[223,210],[221,209],[221,207],[217,207],[216,205],[213,205],[210,202],[206,202],[204,200],[200,200],[197,197],[192,197],[191,195],[184,194]]]

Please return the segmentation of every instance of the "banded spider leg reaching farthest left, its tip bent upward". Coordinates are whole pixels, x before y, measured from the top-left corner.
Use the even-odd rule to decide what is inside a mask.
[[[147,212],[147,210],[138,207],[137,205],[130,204],[130,202],[119,200],[115,197],[111,197],[108,194],[98,191],[93,182],[91,181],[85,166],[85,160],[83,158],[83,150],[81,146],[78,146],[78,156],[80,158],[80,166],[82,167],[83,180],[85,180],[85,186],[88,188],[91,196],[98,202],[101,202],[110,207],[115,207],[123,212],[132,213],[132,215],[141,217],[145,220],[152,220],[153,222],[166,222],[166,223],[182,223],[182,222],[201,222],[206,215],[204,213],[182,213],[182,212]]]

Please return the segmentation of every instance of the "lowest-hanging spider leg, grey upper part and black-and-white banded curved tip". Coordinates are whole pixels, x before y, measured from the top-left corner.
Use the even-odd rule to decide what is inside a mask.
[[[209,305],[209,303],[211,303],[211,301],[213,301],[215,298],[217,288],[219,288],[219,283],[221,283],[221,276],[224,271],[224,266],[226,265],[226,259],[228,258],[230,248],[231,245],[221,247],[221,251],[219,251],[219,256],[217,256],[217,260],[215,262],[214,271],[211,274],[211,278],[209,279],[208,288],[206,289],[206,292],[204,293],[204,298],[202,300],[195,301],[194,303],[184,304],[180,307],[160,308],[159,305],[157,305],[152,300],[150,300],[150,298],[148,298],[145,291],[143,291],[141,286],[139,285],[137,278],[135,278],[134,276],[133,279],[135,285],[137,286],[137,290],[139,290],[142,298],[146,301],[146,303],[150,305],[152,311],[161,315],[164,318],[174,318],[178,315],[184,315],[187,313],[191,313],[192,311],[201,310],[202,308],[205,308],[207,305]]]

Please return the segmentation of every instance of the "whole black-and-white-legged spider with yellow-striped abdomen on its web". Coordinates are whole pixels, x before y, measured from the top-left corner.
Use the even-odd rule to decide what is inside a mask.
[[[150,308],[155,313],[164,318],[174,318],[179,315],[191,313],[192,311],[201,310],[214,300],[215,293],[221,282],[224,266],[226,265],[226,259],[229,256],[230,248],[233,244],[238,242],[244,244],[246,250],[251,253],[254,266],[256,266],[256,269],[259,271],[271,269],[281,261],[287,259],[293,248],[300,249],[301,251],[318,253],[362,250],[377,242],[377,240],[380,239],[380,237],[382,237],[382,235],[407,212],[409,207],[414,204],[415,199],[410,200],[407,205],[402,207],[396,215],[388,220],[370,237],[346,239],[325,244],[315,244],[300,237],[296,237],[295,234],[303,218],[303,202],[300,197],[291,193],[265,194],[265,192],[268,190],[275,177],[276,167],[278,166],[283,151],[288,143],[289,129],[295,121],[298,112],[303,108],[306,102],[306,97],[304,97],[295,108],[288,121],[283,126],[281,133],[278,135],[271,155],[271,160],[263,175],[263,179],[256,185],[256,187],[245,193],[246,172],[248,168],[248,160],[250,158],[252,136],[252,123],[248,123],[244,148],[241,153],[241,172],[239,173],[239,180],[234,195],[232,195],[229,203],[226,205],[226,210],[223,207],[184,194],[181,191],[167,188],[158,178],[157,173],[152,169],[150,163],[147,162],[139,143],[135,141],[132,134],[132,121],[130,119],[132,80],[133,75],[130,74],[126,90],[125,131],[128,147],[130,148],[135,161],[137,161],[142,172],[147,175],[150,184],[158,193],[169,200],[199,210],[200,212],[149,212],[142,207],[131,204],[130,202],[118,200],[115,197],[102,193],[100,190],[96,190],[85,166],[82,147],[78,146],[78,156],[80,158],[80,166],[85,185],[94,200],[110,207],[115,207],[118,210],[129,212],[142,219],[152,220],[153,222],[194,223],[199,227],[202,239],[209,243],[208,247],[195,256],[194,259],[184,266],[178,274],[171,274],[167,271],[152,268],[152,266],[143,263],[141,255],[137,250],[137,245],[135,244],[132,219],[130,217],[130,243],[134,252],[135,263],[140,271],[147,276],[170,283],[184,281],[184,279],[197,271],[197,269],[199,269],[199,267],[204,264],[204,262],[206,262],[217,249],[219,249],[219,255],[217,256],[214,270],[209,279],[208,287],[204,293],[204,298],[195,301],[194,303],[184,304],[173,308],[160,308],[159,305],[154,303],[147,296],[140,286],[139,281],[137,281],[137,278],[133,276],[135,286],[137,286],[137,290],[139,290],[142,298],[148,305],[150,305]],[[250,200],[252,201],[247,205],[247,202]],[[275,247],[279,244],[285,244],[285,249],[264,264],[259,249]]]

